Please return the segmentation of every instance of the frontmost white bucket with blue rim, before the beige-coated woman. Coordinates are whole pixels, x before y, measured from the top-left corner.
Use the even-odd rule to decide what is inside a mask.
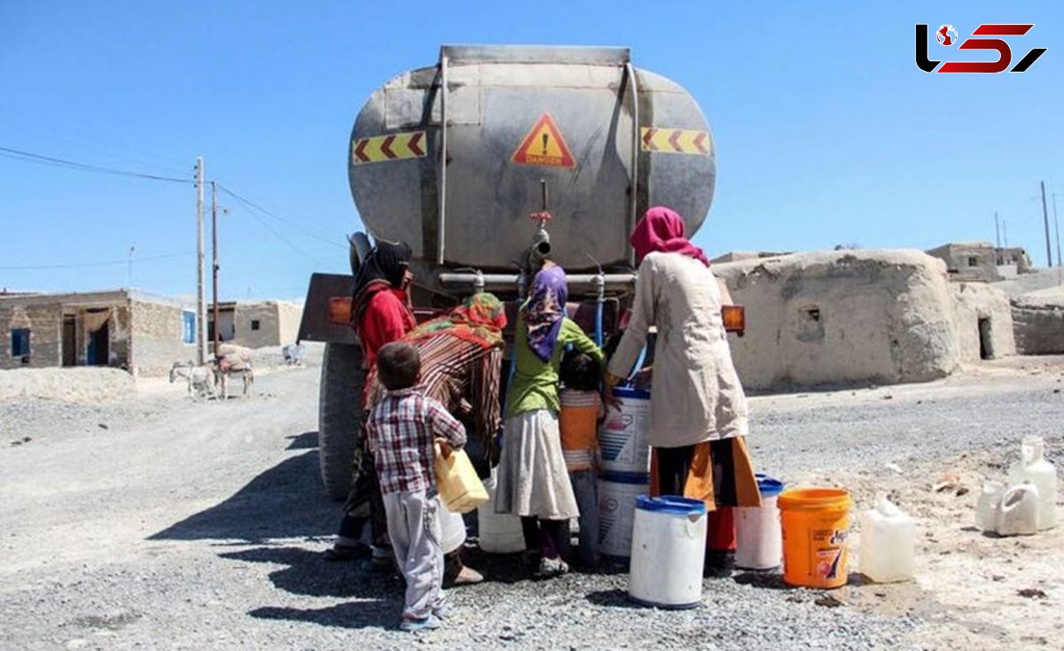
[[[629,598],[660,608],[691,608],[701,603],[705,503],[639,496],[634,524]]]

